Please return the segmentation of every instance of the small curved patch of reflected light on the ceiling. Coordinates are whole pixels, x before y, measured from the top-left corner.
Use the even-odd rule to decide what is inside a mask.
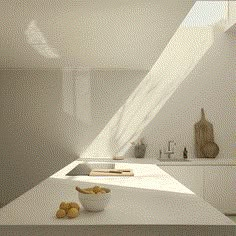
[[[40,55],[46,58],[59,58],[59,54],[57,53],[56,49],[48,45],[35,20],[30,22],[28,28],[25,31],[25,34],[28,44]]]

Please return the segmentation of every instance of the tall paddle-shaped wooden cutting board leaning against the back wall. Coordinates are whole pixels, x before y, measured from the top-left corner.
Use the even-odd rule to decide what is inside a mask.
[[[194,125],[195,149],[198,158],[205,158],[202,149],[208,142],[214,142],[213,125],[205,118],[204,109],[201,109],[201,119]]]

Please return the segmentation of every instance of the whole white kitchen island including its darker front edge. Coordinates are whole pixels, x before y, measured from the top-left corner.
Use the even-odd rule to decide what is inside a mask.
[[[66,176],[80,163],[72,162],[0,209],[0,235],[236,235],[230,219],[156,165],[116,164],[133,169],[133,177]],[[75,219],[55,217],[60,202],[79,202],[75,186],[94,185],[112,190],[104,211],[81,208]]]

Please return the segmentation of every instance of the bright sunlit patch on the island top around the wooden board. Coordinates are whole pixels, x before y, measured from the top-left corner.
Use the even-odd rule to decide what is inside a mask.
[[[62,170],[58,171],[50,178],[62,179],[67,181],[86,182],[89,186],[96,183],[98,185],[114,185],[129,188],[150,189],[165,192],[175,192],[183,194],[194,194],[191,190],[179,183],[176,179],[167,174],[156,165],[135,164],[135,163],[116,163],[117,169],[132,169],[134,177],[109,177],[109,176],[66,176],[66,174],[83,161],[74,161]],[[96,163],[96,162],[89,162]],[[109,162],[99,162],[109,163]]]

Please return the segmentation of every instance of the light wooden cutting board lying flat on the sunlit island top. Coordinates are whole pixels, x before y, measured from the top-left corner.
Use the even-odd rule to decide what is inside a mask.
[[[115,171],[120,171],[116,173]],[[134,176],[134,172],[131,169],[93,169],[90,172],[90,176]]]

